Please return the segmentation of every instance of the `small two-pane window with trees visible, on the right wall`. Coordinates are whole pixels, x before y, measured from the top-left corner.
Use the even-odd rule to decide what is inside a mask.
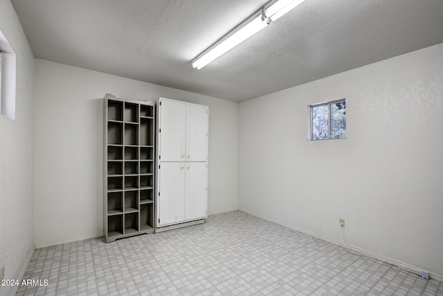
[[[330,101],[309,106],[309,139],[346,138],[346,101]]]

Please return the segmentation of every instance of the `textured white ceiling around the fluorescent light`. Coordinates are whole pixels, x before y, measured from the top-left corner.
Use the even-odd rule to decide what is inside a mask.
[[[208,64],[266,0],[12,0],[36,58],[244,101],[443,42],[442,0],[306,0]]]

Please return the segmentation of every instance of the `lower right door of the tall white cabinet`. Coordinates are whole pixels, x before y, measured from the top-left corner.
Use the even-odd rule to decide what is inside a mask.
[[[185,220],[208,216],[208,167],[206,162],[186,163]]]

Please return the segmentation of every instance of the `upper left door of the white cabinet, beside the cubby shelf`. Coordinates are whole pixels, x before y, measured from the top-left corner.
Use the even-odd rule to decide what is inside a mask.
[[[186,105],[161,101],[159,109],[160,160],[162,162],[183,162],[186,143]]]

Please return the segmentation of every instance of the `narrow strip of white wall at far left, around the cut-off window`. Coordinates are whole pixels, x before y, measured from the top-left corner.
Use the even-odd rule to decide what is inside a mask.
[[[0,1],[0,30],[17,55],[15,121],[0,115],[0,268],[20,279],[34,250],[34,55],[10,1]],[[0,295],[15,288],[0,286]]]

